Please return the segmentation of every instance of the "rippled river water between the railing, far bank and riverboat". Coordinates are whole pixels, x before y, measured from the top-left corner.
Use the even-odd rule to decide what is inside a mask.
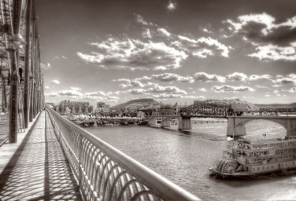
[[[252,121],[246,128],[248,138],[285,135],[285,128],[269,121]],[[221,179],[210,175],[209,166],[226,149],[226,129],[226,121],[196,119],[192,130],[185,131],[179,131],[178,125],[86,130],[202,200],[296,200],[296,176]]]

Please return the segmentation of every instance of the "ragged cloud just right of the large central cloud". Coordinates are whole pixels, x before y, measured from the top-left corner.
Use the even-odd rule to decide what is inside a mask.
[[[232,49],[232,47],[226,47],[226,45],[221,44],[216,39],[212,39],[211,37],[190,39],[179,35],[178,39],[179,40],[172,42],[172,44],[183,51],[191,53],[193,56],[199,56],[201,58],[213,55],[228,57],[229,49]]]

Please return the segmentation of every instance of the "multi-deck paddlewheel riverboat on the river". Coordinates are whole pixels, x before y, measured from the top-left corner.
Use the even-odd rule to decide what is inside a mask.
[[[223,158],[209,168],[222,177],[257,176],[296,169],[296,137],[286,136],[268,140],[239,138],[231,141]]]

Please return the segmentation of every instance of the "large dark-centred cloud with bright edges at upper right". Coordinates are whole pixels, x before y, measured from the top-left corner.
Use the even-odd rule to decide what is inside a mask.
[[[246,41],[258,46],[257,52],[248,56],[258,59],[289,60],[296,59],[296,16],[276,24],[276,18],[267,13],[239,16],[238,21],[227,20],[233,32]]]

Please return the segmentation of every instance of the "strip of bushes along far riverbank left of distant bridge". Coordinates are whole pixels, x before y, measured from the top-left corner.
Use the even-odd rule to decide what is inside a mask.
[[[77,118],[68,118],[68,116],[63,116],[69,121],[72,121],[76,125],[82,128],[97,128],[97,127],[113,127],[113,126],[145,126],[148,125],[148,121],[141,120],[139,118],[135,119],[77,119]]]

